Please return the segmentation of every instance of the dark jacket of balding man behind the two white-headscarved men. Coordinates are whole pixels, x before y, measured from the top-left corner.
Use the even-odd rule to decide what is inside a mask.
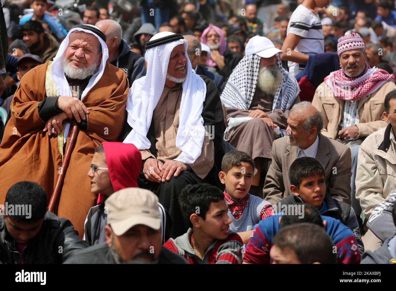
[[[146,76],[146,62],[145,58],[130,51],[131,47],[124,39],[121,39],[120,54],[110,62],[113,66],[122,69],[129,82],[129,88],[132,86],[133,81]]]

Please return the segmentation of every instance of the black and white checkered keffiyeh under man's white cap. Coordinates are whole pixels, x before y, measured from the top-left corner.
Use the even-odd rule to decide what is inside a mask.
[[[246,55],[235,67],[220,96],[226,107],[249,109],[256,91],[260,59],[261,57],[256,54]],[[289,109],[300,92],[296,78],[282,67],[278,55],[276,55],[276,63],[282,71],[283,80],[275,92],[272,112],[275,109],[282,111]]]

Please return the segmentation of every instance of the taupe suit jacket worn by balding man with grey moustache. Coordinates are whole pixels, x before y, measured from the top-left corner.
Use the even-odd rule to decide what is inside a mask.
[[[288,137],[276,139],[272,144],[272,163],[264,184],[264,199],[276,204],[291,195],[289,183],[290,165],[297,159],[297,146],[287,143]],[[323,165],[326,179],[326,193],[350,204],[350,169],[352,160],[348,146],[319,134],[316,160]]]

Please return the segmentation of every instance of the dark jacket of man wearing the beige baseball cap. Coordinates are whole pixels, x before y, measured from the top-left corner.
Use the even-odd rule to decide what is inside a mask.
[[[107,243],[93,245],[78,252],[75,256],[68,259],[65,264],[115,264],[113,255]],[[187,261],[161,247],[161,254],[158,264],[187,264]]]

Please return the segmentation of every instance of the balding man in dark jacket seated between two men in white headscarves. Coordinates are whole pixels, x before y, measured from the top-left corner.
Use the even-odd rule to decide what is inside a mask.
[[[122,38],[122,28],[117,21],[104,19],[98,21],[95,26],[106,36],[106,44],[109,49],[108,62],[125,72],[129,87],[136,79],[146,76],[145,58],[131,51],[131,47]]]

